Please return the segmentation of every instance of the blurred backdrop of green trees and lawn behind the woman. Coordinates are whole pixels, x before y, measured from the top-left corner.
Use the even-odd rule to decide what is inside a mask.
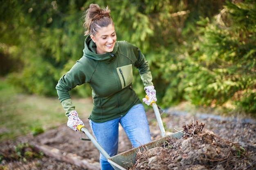
[[[83,55],[91,3],[110,8],[117,40],[141,49],[161,107],[256,115],[255,0],[0,0],[1,139],[67,121],[55,86]],[[87,118],[90,86],[71,94]]]

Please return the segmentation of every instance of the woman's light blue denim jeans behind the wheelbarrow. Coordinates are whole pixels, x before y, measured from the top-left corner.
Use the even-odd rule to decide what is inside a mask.
[[[121,118],[103,123],[95,123],[90,120],[90,126],[95,139],[110,157],[117,155],[119,123],[126,132],[133,147],[151,142],[148,120],[142,104],[135,105]],[[100,154],[99,159],[101,170],[114,170],[102,154]]]

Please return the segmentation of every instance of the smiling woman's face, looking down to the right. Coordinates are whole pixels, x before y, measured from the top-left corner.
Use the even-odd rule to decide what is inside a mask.
[[[96,35],[90,35],[90,37],[92,41],[96,43],[97,54],[112,52],[117,40],[115,26],[109,24],[108,26],[98,29]]]

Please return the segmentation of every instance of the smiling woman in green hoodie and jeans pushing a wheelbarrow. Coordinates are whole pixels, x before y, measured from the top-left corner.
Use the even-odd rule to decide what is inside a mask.
[[[56,85],[59,100],[68,117],[67,126],[77,131],[84,125],[75,111],[69,91],[89,83],[92,87],[93,109],[89,122],[93,135],[110,157],[117,154],[118,126],[124,128],[133,147],[151,141],[146,113],[132,89],[132,67],[139,70],[148,96],[143,101],[150,105],[156,101],[155,89],[148,62],[141,51],[126,41],[116,41],[115,26],[110,10],[90,4],[83,15],[85,22],[85,48],[83,57]],[[102,170],[112,166],[100,155]]]

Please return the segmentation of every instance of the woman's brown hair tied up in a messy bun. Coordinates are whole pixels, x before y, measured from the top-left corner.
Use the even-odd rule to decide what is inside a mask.
[[[90,4],[82,18],[85,35],[92,34],[95,36],[99,28],[114,24],[108,7],[101,9],[98,4]]]

